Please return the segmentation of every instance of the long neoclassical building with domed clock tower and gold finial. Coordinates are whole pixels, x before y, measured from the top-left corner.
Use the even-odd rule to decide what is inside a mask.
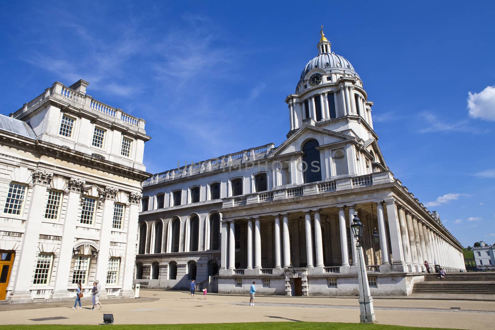
[[[360,76],[320,34],[285,99],[287,140],[143,183],[137,283],[186,288],[195,279],[241,293],[256,281],[266,294],[355,294],[354,212],[372,294],[409,294],[425,260],[465,269],[459,241],[387,166]]]

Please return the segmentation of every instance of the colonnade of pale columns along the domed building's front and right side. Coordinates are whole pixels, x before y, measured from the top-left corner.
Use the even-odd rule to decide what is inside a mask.
[[[382,272],[422,272],[426,271],[423,262],[426,260],[433,269],[440,265],[448,271],[465,269],[463,255],[460,250],[448,242],[446,237],[425,220],[417,217],[412,211],[396,203],[395,200],[375,202],[378,233],[380,237]],[[353,221],[356,205],[342,205],[338,208],[340,232],[340,249],[342,267],[356,265],[357,251],[355,240],[350,235],[347,241],[347,228]],[[385,210],[386,216],[385,217]],[[301,210],[304,212],[304,234],[306,251],[306,268],[323,268],[323,236],[321,225],[321,209]],[[347,211],[347,212],[346,212]],[[347,213],[347,214],[346,214]],[[226,219],[222,221],[221,235],[221,269],[235,270],[235,223],[247,221],[247,266],[246,269],[261,269],[261,233],[260,217],[250,219]],[[273,216],[274,262],[276,269],[291,265],[291,238],[289,234],[289,214]],[[337,230],[337,229],[335,229]],[[271,243],[271,242],[270,242]],[[314,246],[313,246],[314,244]],[[350,247],[350,251],[348,251]],[[352,261],[349,262],[349,256]],[[313,260],[314,257],[314,260]],[[389,267],[390,266],[390,267]]]

